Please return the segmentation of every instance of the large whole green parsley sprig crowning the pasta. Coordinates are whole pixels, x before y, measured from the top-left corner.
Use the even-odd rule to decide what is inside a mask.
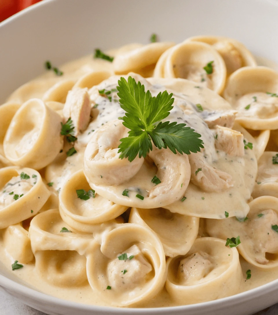
[[[123,125],[130,129],[129,136],[120,139],[118,152],[121,159],[128,158],[131,162],[138,153],[139,157],[145,158],[153,149],[152,142],[159,149],[169,147],[175,154],[177,151],[196,153],[204,147],[201,135],[185,127],[185,123],[161,122],[173,108],[173,94],[164,91],[152,97],[150,91],[145,92],[144,85],[136,83],[132,77],[128,77],[128,81],[121,77],[118,84],[120,106],[126,112]]]

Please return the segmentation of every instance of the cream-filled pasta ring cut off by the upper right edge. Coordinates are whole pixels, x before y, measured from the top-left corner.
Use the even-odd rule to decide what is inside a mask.
[[[228,79],[224,98],[238,111],[236,120],[252,130],[278,129],[278,73],[264,67],[243,67]]]

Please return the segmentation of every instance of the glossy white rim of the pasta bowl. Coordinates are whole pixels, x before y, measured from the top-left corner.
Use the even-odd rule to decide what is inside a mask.
[[[29,11],[36,10],[38,7],[42,7],[44,5],[48,5],[49,3],[56,2],[56,1],[57,0],[43,0],[35,4],[32,4],[31,6],[21,10],[20,12],[17,12],[16,14],[0,22],[0,28],[6,26],[13,20],[16,20],[21,15],[24,15],[28,13]],[[277,0],[257,0],[257,1],[261,3],[268,2],[270,5],[274,5],[278,7]],[[5,268],[8,270],[6,266]],[[32,297],[33,300],[36,300],[38,302],[48,303],[48,304],[56,305],[56,306],[67,306],[69,308],[85,310],[85,311],[103,312],[103,313],[109,312],[110,314],[129,314],[130,312],[133,312],[134,314],[142,313],[142,312],[146,312],[148,314],[149,313],[154,314],[157,312],[169,314],[170,312],[174,313],[174,312],[180,312],[180,311],[193,311],[193,310],[206,309],[208,307],[211,307],[211,308],[213,307],[213,309],[216,311],[217,309],[220,309],[221,306],[223,306],[224,304],[225,304],[225,307],[235,306],[236,304],[243,303],[248,300],[253,300],[257,297],[260,297],[261,295],[266,295],[272,292],[274,289],[278,289],[278,278],[269,283],[260,285],[256,288],[243,291],[235,295],[220,298],[217,300],[195,303],[195,304],[188,304],[188,305],[179,305],[179,306],[144,307],[144,308],[143,307],[134,308],[134,307],[100,306],[100,305],[73,302],[73,301],[57,298],[52,295],[48,295],[37,289],[32,289],[28,286],[25,286],[12,279],[5,277],[1,273],[0,273],[0,286],[5,291],[11,290],[11,291],[19,293],[22,296],[26,296],[26,297],[30,296]]]

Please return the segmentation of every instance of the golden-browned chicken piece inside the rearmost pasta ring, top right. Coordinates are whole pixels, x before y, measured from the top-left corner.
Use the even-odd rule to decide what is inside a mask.
[[[228,40],[222,40],[212,45],[225,61],[227,72],[232,73],[243,66],[239,51]]]

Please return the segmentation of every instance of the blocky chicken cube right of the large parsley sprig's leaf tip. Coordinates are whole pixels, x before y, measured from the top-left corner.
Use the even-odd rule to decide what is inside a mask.
[[[241,132],[222,126],[215,128],[215,147],[232,156],[244,156],[244,142]]]

